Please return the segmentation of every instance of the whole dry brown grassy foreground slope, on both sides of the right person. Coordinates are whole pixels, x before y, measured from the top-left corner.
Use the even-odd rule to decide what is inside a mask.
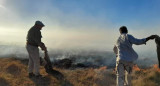
[[[100,68],[54,68],[64,75],[57,79],[48,75],[44,68],[40,72],[43,78],[28,78],[27,62],[15,58],[0,58],[0,86],[115,86],[116,75],[113,69]],[[160,70],[153,68],[133,70],[133,86],[159,86]]]

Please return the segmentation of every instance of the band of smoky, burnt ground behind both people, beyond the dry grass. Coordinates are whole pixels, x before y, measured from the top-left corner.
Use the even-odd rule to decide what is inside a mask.
[[[116,64],[116,56],[112,51],[100,51],[93,49],[48,49],[49,56],[54,66],[63,67],[68,65],[74,67],[101,67],[114,68]],[[15,57],[20,59],[27,59],[28,53],[24,46],[18,45],[0,45],[0,57]],[[40,50],[40,56],[43,58],[44,54]],[[141,58],[136,61],[140,68],[151,67],[157,64],[157,57]],[[68,68],[68,67],[66,67]]]

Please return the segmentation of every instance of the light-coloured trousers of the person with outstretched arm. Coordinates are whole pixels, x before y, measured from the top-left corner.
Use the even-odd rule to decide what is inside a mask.
[[[117,86],[131,86],[131,72],[133,63],[127,61],[117,61]]]

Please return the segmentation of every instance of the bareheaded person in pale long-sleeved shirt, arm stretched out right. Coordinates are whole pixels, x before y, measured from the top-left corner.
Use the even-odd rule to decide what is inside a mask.
[[[150,39],[154,39],[156,36],[151,35],[147,38],[137,39],[132,35],[128,34],[126,26],[122,26],[119,29],[120,36],[113,48],[116,54],[116,75],[117,75],[117,86],[131,86],[131,71],[133,62],[138,58],[138,54],[132,48],[133,44],[141,45],[146,44]]]

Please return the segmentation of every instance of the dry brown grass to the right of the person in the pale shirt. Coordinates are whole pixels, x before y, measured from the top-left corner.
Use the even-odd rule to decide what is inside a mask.
[[[134,71],[132,84],[136,86],[160,86],[160,71],[157,65]]]

